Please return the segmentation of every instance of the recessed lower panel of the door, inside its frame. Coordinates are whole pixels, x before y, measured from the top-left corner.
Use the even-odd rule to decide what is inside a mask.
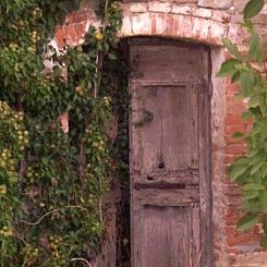
[[[190,266],[192,210],[146,205],[142,218],[141,266]]]

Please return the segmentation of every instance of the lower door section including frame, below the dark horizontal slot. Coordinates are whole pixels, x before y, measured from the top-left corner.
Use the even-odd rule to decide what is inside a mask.
[[[199,199],[186,201],[196,194],[148,191],[147,198],[144,191],[134,193],[132,266],[199,267]]]

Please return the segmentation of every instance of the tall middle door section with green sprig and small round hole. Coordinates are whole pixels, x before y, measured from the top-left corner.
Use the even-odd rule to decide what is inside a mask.
[[[133,94],[133,171],[197,169],[196,86],[136,86]]]

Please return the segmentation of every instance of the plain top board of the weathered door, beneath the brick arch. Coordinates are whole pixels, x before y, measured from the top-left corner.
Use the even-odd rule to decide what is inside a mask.
[[[162,46],[133,46],[131,49],[132,80],[147,82],[195,81],[197,49]],[[179,62],[179,64],[178,64]]]

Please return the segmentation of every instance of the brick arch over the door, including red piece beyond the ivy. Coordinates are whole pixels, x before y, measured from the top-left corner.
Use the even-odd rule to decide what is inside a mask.
[[[230,24],[230,15],[226,11],[170,2],[124,3],[122,8],[121,37],[158,36],[210,46],[221,46],[222,38],[239,43],[240,27]],[[84,8],[70,14],[64,25],[57,27],[54,37],[58,47],[82,44],[89,25],[99,25],[92,9]]]

